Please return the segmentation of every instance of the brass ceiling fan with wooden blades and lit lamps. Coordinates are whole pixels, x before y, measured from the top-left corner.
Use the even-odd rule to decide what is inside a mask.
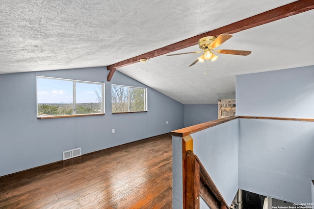
[[[198,40],[198,45],[201,51],[193,51],[193,52],[186,52],[186,53],[179,53],[179,54],[168,54],[166,56],[174,56],[174,55],[181,55],[181,54],[195,54],[204,52],[197,60],[195,60],[190,66],[194,65],[197,62],[204,62],[204,60],[210,60],[211,62],[215,61],[218,56],[213,52],[218,54],[234,54],[234,55],[242,55],[246,56],[251,54],[251,51],[243,51],[243,50],[232,50],[232,49],[219,49],[214,50],[217,46],[220,46],[222,43],[230,39],[232,35],[230,34],[220,34],[218,37],[215,36],[206,36]],[[190,67],[189,66],[189,67]]]

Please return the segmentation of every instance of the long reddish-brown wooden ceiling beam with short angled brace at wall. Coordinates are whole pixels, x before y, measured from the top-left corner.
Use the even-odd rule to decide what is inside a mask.
[[[263,12],[261,14],[246,18],[244,20],[228,24],[226,26],[208,31],[206,33],[199,34],[197,36],[193,36],[191,38],[185,39],[183,41],[164,46],[162,48],[158,48],[156,50],[138,55],[136,57],[132,57],[127,60],[123,60],[121,62],[112,64],[107,66],[107,70],[110,70],[107,80],[110,81],[115,69],[121,68],[124,66],[131,65],[133,63],[139,62],[140,59],[151,59],[163,54],[167,54],[169,52],[177,51],[189,46],[194,46],[198,44],[198,40],[203,38],[204,36],[218,36],[222,33],[233,34],[236,32],[240,32],[242,30],[246,30],[252,27],[256,27],[262,24],[270,23],[276,20],[280,20],[282,18],[286,18],[292,15],[296,15],[302,12],[309,11],[314,9],[314,0],[297,0],[295,2],[286,4],[284,6],[277,7],[275,9]]]

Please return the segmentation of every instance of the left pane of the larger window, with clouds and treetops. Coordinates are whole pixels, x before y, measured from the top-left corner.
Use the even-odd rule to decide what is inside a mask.
[[[73,115],[73,81],[37,78],[37,116]]]

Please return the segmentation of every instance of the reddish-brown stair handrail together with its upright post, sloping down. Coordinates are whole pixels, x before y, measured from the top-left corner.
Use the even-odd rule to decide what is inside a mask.
[[[186,152],[185,166],[184,209],[199,209],[200,195],[211,209],[229,208],[203,164],[191,150]]]

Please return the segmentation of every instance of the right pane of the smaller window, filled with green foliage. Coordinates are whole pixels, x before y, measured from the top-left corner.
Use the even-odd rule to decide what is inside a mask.
[[[130,88],[131,108],[130,111],[145,111],[145,89]]]

